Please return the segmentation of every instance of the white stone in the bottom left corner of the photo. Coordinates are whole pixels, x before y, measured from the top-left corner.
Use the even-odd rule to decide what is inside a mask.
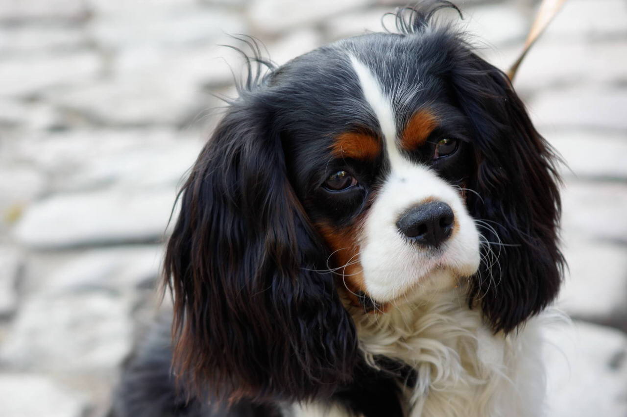
[[[82,417],[87,411],[83,394],[58,380],[38,374],[0,374],[0,415],[6,417]]]

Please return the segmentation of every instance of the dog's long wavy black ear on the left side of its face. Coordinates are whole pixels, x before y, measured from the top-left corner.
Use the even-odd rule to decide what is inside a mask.
[[[231,105],[184,184],[167,244],[174,371],[224,401],[328,394],[357,357],[270,101],[243,92]]]

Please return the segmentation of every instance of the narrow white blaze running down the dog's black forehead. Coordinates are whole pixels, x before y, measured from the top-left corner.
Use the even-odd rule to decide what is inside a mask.
[[[394,162],[401,161],[401,153],[396,147],[396,119],[390,100],[383,92],[379,80],[366,65],[354,56],[350,56],[350,62],[359,78],[364,98],[381,126],[381,132],[386,140],[387,156],[394,165]]]

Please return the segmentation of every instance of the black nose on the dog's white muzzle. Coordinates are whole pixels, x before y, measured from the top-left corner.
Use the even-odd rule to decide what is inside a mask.
[[[396,222],[403,235],[426,246],[440,246],[451,236],[455,214],[442,201],[420,204],[406,211]]]

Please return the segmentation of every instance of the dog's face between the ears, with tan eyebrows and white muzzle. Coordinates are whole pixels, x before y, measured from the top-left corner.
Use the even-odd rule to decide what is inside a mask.
[[[423,47],[361,36],[275,78],[275,88],[299,92],[281,109],[292,186],[340,288],[377,310],[450,288],[479,265],[464,203],[472,126]]]

